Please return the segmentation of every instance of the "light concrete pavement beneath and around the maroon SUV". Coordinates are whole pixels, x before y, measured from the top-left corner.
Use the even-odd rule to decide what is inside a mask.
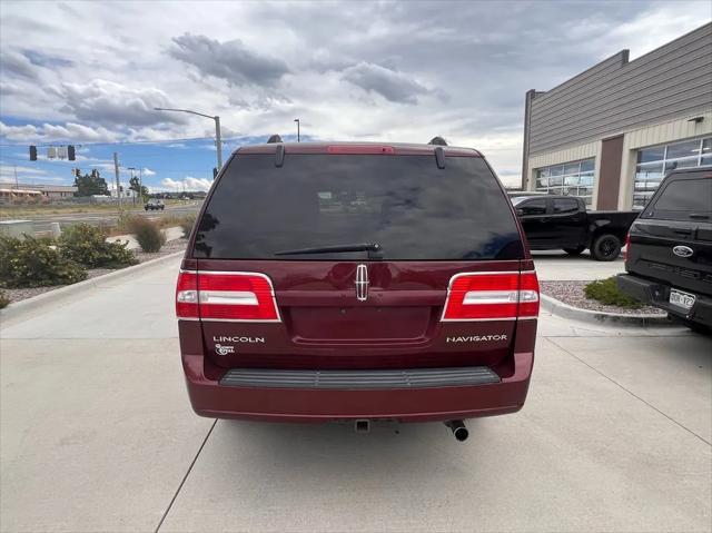
[[[543,316],[524,409],[466,443],[216,423],[185,392],[177,268],[0,324],[1,531],[712,527],[709,337]]]

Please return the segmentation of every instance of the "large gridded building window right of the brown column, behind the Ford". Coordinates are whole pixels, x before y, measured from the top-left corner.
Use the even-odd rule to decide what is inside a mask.
[[[712,165],[712,137],[637,150],[633,209],[644,209],[663,177],[675,168]]]

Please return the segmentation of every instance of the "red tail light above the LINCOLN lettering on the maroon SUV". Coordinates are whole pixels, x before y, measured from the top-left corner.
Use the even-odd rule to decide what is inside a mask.
[[[280,322],[271,282],[255,273],[181,270],[176,315],[194,320]]]

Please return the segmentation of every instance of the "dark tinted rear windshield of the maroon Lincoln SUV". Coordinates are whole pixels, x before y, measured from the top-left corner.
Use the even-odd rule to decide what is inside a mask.
[[[508,201],[482,158],[238,155],[210,196],[194,257],[365,259],[364,251],[277,256],[378,244],[384,259],[518,259]]]

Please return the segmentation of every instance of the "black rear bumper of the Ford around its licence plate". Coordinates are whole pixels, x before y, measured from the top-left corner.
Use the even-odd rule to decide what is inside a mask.
[[[712,298],[695,294],[695,303],[690,310],[670,304],[670,289],[678,288],[668,284],[652,282],[633,274],[619,274],[619,288],[636,300],[666,310],[671,315],[685,320],[692,320],[705,326],[712,326]],[[680,290],[694,294],[688,289]]]

